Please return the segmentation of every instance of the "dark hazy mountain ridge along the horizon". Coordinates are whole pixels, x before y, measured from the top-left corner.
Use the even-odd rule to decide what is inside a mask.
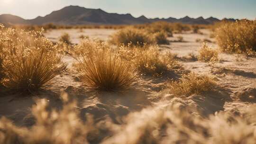
[[[235,19],[227,18],[225,18],[225,20],[235,21]],[[212,24],[220,20],[213,17],[204,19],[202,17],[190,18],[188,16],[180,19],[171,17],[166,19],[152,19],[146,18],[145,16],[135,18],[130,14],[107,13],[101,9],[86,9],[79,6],[68,6],[63,9],[53,11],[45,17],[37,17],[35,19],[23,19],[9,14],[0,15],[0,23],[32,25],[42,25],[47,23],[61,25],[129,25],[152,23],[156,21],[180,22],[183,24]]]

